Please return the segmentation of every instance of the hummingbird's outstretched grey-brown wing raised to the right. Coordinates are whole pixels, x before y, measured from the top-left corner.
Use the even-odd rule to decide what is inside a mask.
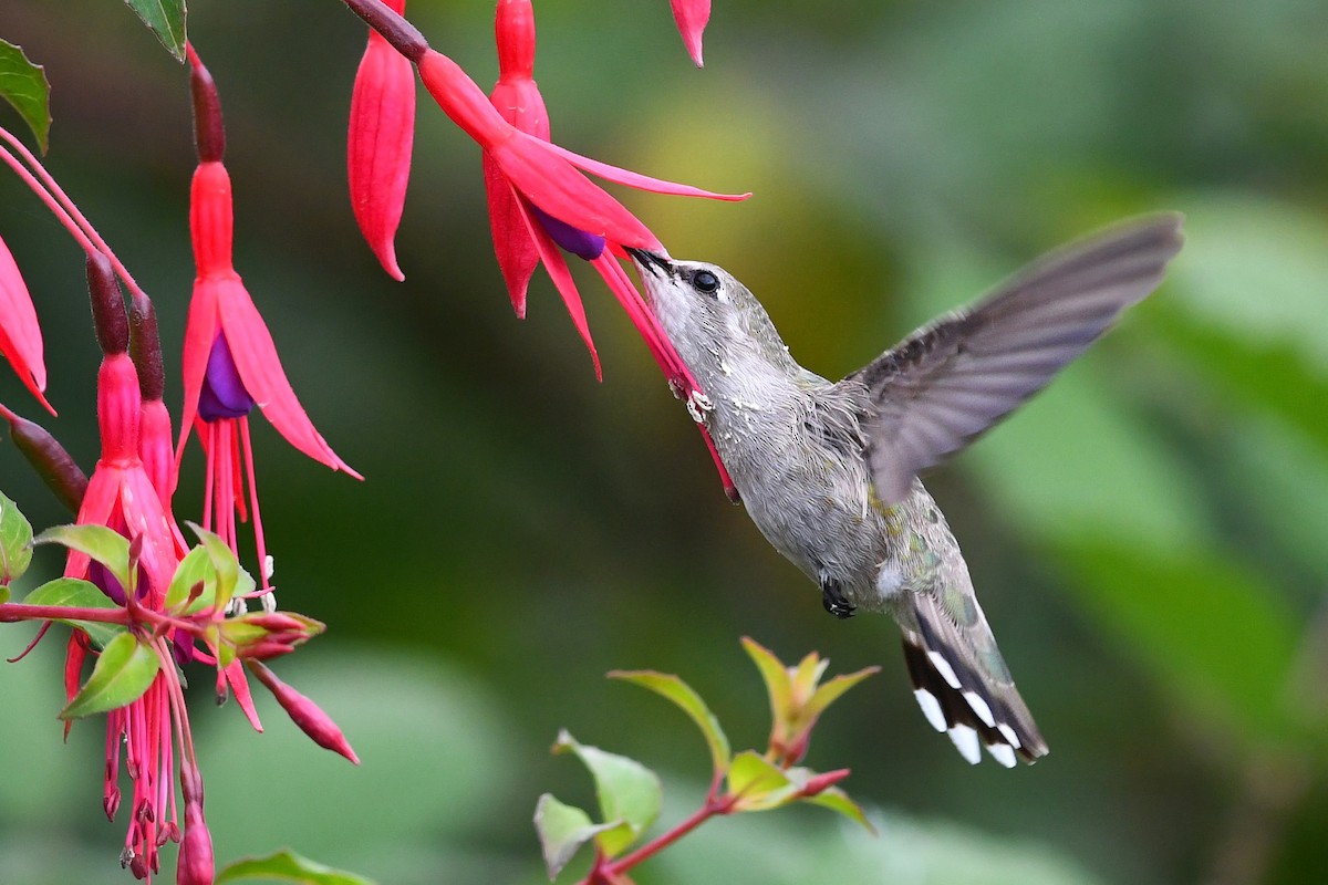
[[[876,407],[863,425],[876,495],[907,498],[914,476],[1046,386],[1153,292],[1181,249],[1181,220],[1149,216],[1053,252],[849,375]]]

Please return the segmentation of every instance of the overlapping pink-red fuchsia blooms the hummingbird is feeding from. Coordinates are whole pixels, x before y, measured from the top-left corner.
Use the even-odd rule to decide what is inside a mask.
[[[660,180],[574,154],[548,141],[548,115],[534,81],[535,24],[530,0],[499,0],[495,17],[499,78],[490,101],[452,60],[429,48],[424,36],[378,0],[345,0],[420,70],[425,88],[445,114],[483,150],[485,186],[498,263],[518,314],[538,263],[552,277],[586,341],[599,373],[599,357],[580,295],[556,247],[590,261],[640,330],[669,386],[688,402],[724,482],[734,488],[713,442],[700,423],[708,405],[687,366],[664,336],[641,295],[616,257],[624,247],[665,252],[659,239],[616,199],[583,172],[637,190],[681,196],[741,200],[750,194],[714,194]]]

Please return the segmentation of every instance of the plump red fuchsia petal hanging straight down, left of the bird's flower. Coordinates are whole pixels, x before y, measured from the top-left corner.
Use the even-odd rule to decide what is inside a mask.
[[[371,31],[351,93],[347,172],[355,220],[382,269],[394,280],[405,279],[397,267],[393,238],[410,179],[414,89],[410,61]]]

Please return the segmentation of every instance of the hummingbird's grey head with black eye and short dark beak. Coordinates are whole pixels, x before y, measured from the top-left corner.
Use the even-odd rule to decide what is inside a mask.
[[[784,341],[765,308],[745,285],[716,264],[675,261],[627,249],[645,284],[651,308],[692,372],[724,360],[786,358]]]

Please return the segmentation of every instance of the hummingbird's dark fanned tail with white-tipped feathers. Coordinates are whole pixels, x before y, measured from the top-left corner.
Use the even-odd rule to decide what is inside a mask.
[[[981,760],[979,742],[1007,768],[1015,767],[1015,754],[1029,763],[1045,756],[1046,742],[1019,697],[981,609],[975,624],[959,626],[938,596],[919,593],[912,602],[910,620],[916,629],[903,628],[904,661],[927,722],[948,732],[975,766]]]

